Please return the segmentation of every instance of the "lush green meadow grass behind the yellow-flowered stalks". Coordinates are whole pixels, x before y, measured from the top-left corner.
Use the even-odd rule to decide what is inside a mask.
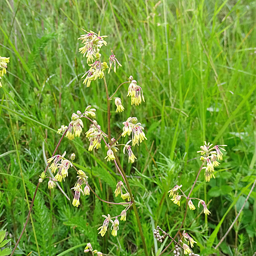
[[[84,28],[108,35],[102,58],[108,59],[112,49],[122,64],[116,74],[106,75],[109,91],[130,75],[143,89],[145,103],[137,107],[126,97],[127,85],[120,89],[125,111],[115,114],[112,103],[111,126],[118,136],[129,116],[145,125],[147,141],[134,151],[138,160],[128,164],[122,153],[120,159],[130,177],[148,251],[156,255],[161,246],[153,238],[155,226],[173,236],[178,230],[185,201],[178,207],[166,192],[177,183],[189,191],[200,167],[196,151],[204,140],[228,147],[216,179],[206,183],[201,174],[193,192],[210,202],[211,211],[208,218],[198,208],[188,212],[184,228],[198,241],[194,251],[256,251],[254,191],[225,241],[213,249],[255,178],[255,1],[2,0],[0,12],[0,55],[10,56],[0,90],[0,227],[8,230],[12,246],[46,166],[44,156],[51,156],[60,138],[60,125],[91,104],[106,131],[103,81],[92,82],[90,88],[82,84],[88,66],[77,38]],[[89,125],[84,123],[84,131]],[[118,202],[113,189],[120,177],[105,162],[104,147],[94,153],[87,149],[83,133],[72,142],[63,140],[58,153],[74,152],[97,193]],[[70,173],[61,184],[71,199],[75,177]],[[36,196],[33,225],[29,222],[15,254],[83,255],[85,243],[91,242],[107,255],[144,255],[132,210],[116,238],[110,232],[104,238],[97,234],[101,215],[115,216],[122,209],[93,195],[82,197],[77,209],[45,182]]]

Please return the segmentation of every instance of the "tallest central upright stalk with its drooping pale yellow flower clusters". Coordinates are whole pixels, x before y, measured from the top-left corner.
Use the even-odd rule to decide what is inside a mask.
[[[127,151],[128,155],[129,155],[129,163],[130,162],[133,163],[135,161],[136,157],[132,153],[131,146],[127,145],[129,143],[118,144],[117,141],[119,140],[120,137],[118,137],[116,139],[115,137],[111,136],[111,125],[110,125],[111,124],[111,116],[110,116],[111,100],[123,84],[130,83],[128,96],[131,96],[132,104],[135,104],[136,106],[139,105],[141,103],[141,100],[144,101],[144,96],[143,96],[141,87],[137,86],[137,82],[135,80],[133,81],[132,76],[130,76],[129,81],[121,83],[120,86],[118,86],[118,88],[116,89],[116,91],[114,92],[114,94],[111,97],[109,96],[109,89],[108,89],[108,85],[106,83],[104,71],[109,69],[108,70],[108,73],[109,73],[110,69],[112,69],[114,67],[113,70],[114,70],[114,72],[116,72],[116,70],[117,70],[116,67],[117,68],[122,67],[122,65],[117,60],[116,56],[113,54],[113,51],[112,51],[111,56],[109,57],[109,65],[110,66],[108,66],[106,62],[101,61],[101,54],[100,54],[101,47],[106,46],[106,44],[107,44],[106,41],[104,40],[105,37],[106,36],[103,36],[103,37],[100,36],[100,33],[96,34],[95,32],[90,31],[90,32],[87,32],[87,34],[81,35],[78,38],[78,39],[82,40],[82,44],[84,45],[83,47],[81,47],[79,49],[79,51],[83,54],[83,56],[87,57],[87,63],[92,62],[89,64],[89,67],[90,67],[89,70],[83,76],[83,77],[86,77],[84,79],[83,83],[86,84],[87,87],[90,87],[91,82],[93,80],[103,79],[104,88],[105,88],[105,92],[106,92],[106,101],[107,101],[107,105],[108,105],[108,132],[106,134],[104,132],[102,132],[100,130],[100,127],[98,127],[98,124],[95,124],[95,121],[93,121],[94,126],[92,126],[92,125],[90,126],[90,129],[86,135],[90,141],[90,145],[89,145],[90,151],[92,151],[93,148],[95,148],[96,150],[99,149],[101,140],[104,141],[106,147],[108,148],[107,155],[105,156],[106,161],[110,161],[110,162],[113,161],[116,165],[116,168],[118,169],[121,176],[123,177],[125,185],[127,186],[127,189],[125,188],[125,190],[126,190],[125,194],[121,193],[121,198],[123,200],[124,199],[127,199],[129,201],[131,200],[131,204],[128,207],[126,207],[125,210],[123,210],[121,212],[120,220],[126,220],[126,211],[132,205],[133,210],[135,212],[137,222],[138,222],[138,227],[139,227],[140,236],[142,239],[144,253],[147,256],[148,252],[147,252],[147,248],[146,248],[146,244],[145,244],[137,208],[135,206],[134,198],[132,197],[132,191],[131,191],[130,184],[126,178],[126,175],[123,171],[123,168],[122,168],[120,161],[118,159],[118,156],[116,154],[117,149],[119,146],[124,146],[125,150]],[[116,113],[120,113],[120,112],[124,111],[124,107],[121,103],[120,98],[115,97],[115,105],[117,107]],[[144,139],[146,139],[146,137],[145,137],[144,132],[142,131],[142,130],[144,130],[144,128],[141,126],[141,124],[140,123],[133,123],[133,124],[134,125],[131,125],[131,129],[132,129],[132,133],[133,133],[132,145],[135,146],[136,144],[139,145],[139,142],[141,143]],[[105,141],[105,139],[108,139],[109,143],[107,143]],[[124,153],[125,153],[125,150],[124,150]],[[123,186],[123,187],[125,187],[125,186]],[[115,194],[118,194],[118,191],[116,191]],[[119,221],[118,221],[118,219],[116,219],[117,217],[113,217],[113,218],[115,218],[114,224],[112,223],[112,218],[109,217],[109,215],[107,218],[105,218],[105,222],[101,226],[100,232],[99,232],[101,234],[101,236],[103,236],[106,229],[108,229],[109,222],[112,223],[112,235],[116,236]]]

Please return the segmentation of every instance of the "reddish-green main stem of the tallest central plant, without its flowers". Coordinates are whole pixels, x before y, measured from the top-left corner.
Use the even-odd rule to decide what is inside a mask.
[[[103,81],[104,81],[104,86],[105,86],[105,91],[106,91],[106,100],[107,100],[107,104],[108,104],[108,137],[109,137],[109,143],[111,144],[111,131],[110,131],[110,97],[109,97],[109,91],[108,91],[108,85],[106,84],[106,79],[105,79],[105,76],[103,77]],[[134,210],[134,214],[135,214],[135,217],[136,217],[136,220],[137,220],[137,223],[138,223],[138,227],[139,227],[139,231],[140,231],[140,237],[141,237],[141,240],[142,240],[142,245],[143,245],[143,249],[144,249],[144,252],[145,252],[145,256],[148,256],[148,253],[147,253],[147,248],[146,248],[146,243],[145,243],[145,238],[144,238],[144,234],[143,234],[143,230],[142,230],[142,227],[141,227],[141,223],[140,223],[140,218],[139,218],[139,214],[138,214],[138,211],[137,211],[137,208],[136,208],[136,205],[135,205],[135,201],[134,201],[134,198],[133,198],[133,193],[132,193],[132,189],[131,189],[131,186],[129,184],[129,181],[127,180],[127,177],[124,173],[124,170],[120,164],[120,161],[119,161],[119,158],[117,157],[116,153],[114,152],[114,156],[116,158],[116,162],[121,170],[121,173],[123,175],[123,178],[124,178],[124,181],[127,185],[127,189],[128,189],[128,192],[130,194],[130,197],[131,197],[131,202],[133,203],[132,206],[133,206],[133,210]]]

